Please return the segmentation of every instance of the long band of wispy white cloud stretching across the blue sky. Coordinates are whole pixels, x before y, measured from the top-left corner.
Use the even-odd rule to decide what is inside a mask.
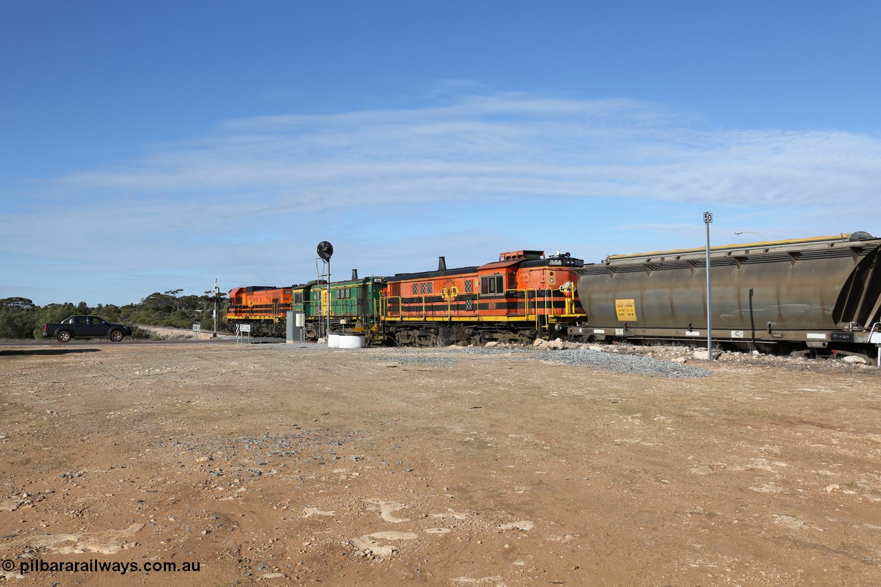
[[[742,205],[857,204],[881,140],[843,132],[713,130],[633,100],[519,95],[443,108],[262,116],[63,178],[125,194],[241,193],[309,209],[472,197],[648,197]],[[202,196],[204,197],[204,196]]]

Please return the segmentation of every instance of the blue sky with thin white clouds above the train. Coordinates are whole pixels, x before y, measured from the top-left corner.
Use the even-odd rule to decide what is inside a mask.
[[[0,3],[0,297],[881,234],[881,4]]]

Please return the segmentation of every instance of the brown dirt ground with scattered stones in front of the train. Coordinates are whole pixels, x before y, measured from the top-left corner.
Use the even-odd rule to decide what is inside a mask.
[[[881,371],[550,353],[2,346],[0,577],[881,585]]]

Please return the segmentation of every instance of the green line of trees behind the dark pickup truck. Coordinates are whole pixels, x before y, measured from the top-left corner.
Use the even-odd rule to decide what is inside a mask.
[[[27,298],[5,298],[0,300],[0,338],[41,338],[43,324],[59,323],[70,316],[84,314],[101,316],[112,323],[131,324],[134,327],[133,338],[150,338],[150,334],[138,329],[137,324],[189,329],[193,324],[201,323],[203,330],[212,330],[215,299],[218,330],[226,328],[226,294],[220,293],[215,298],[213,292],[181,295],[182,292],[182,289],[170,290],[165,294],[155,292],[139,303],[125,306],[98,304],[92,307],[85,301],[77,305],[65,302],[37,306]]]

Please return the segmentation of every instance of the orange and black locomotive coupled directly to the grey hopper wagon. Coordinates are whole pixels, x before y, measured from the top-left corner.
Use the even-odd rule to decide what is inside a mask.
[[[499,261],[448,270],[389,277],[380,300],[375,343],[401,346],[527,343],[538,337],[566,336],[586,323],[575,295],[573,269],[584,261],[543,251],[502,253]]]

